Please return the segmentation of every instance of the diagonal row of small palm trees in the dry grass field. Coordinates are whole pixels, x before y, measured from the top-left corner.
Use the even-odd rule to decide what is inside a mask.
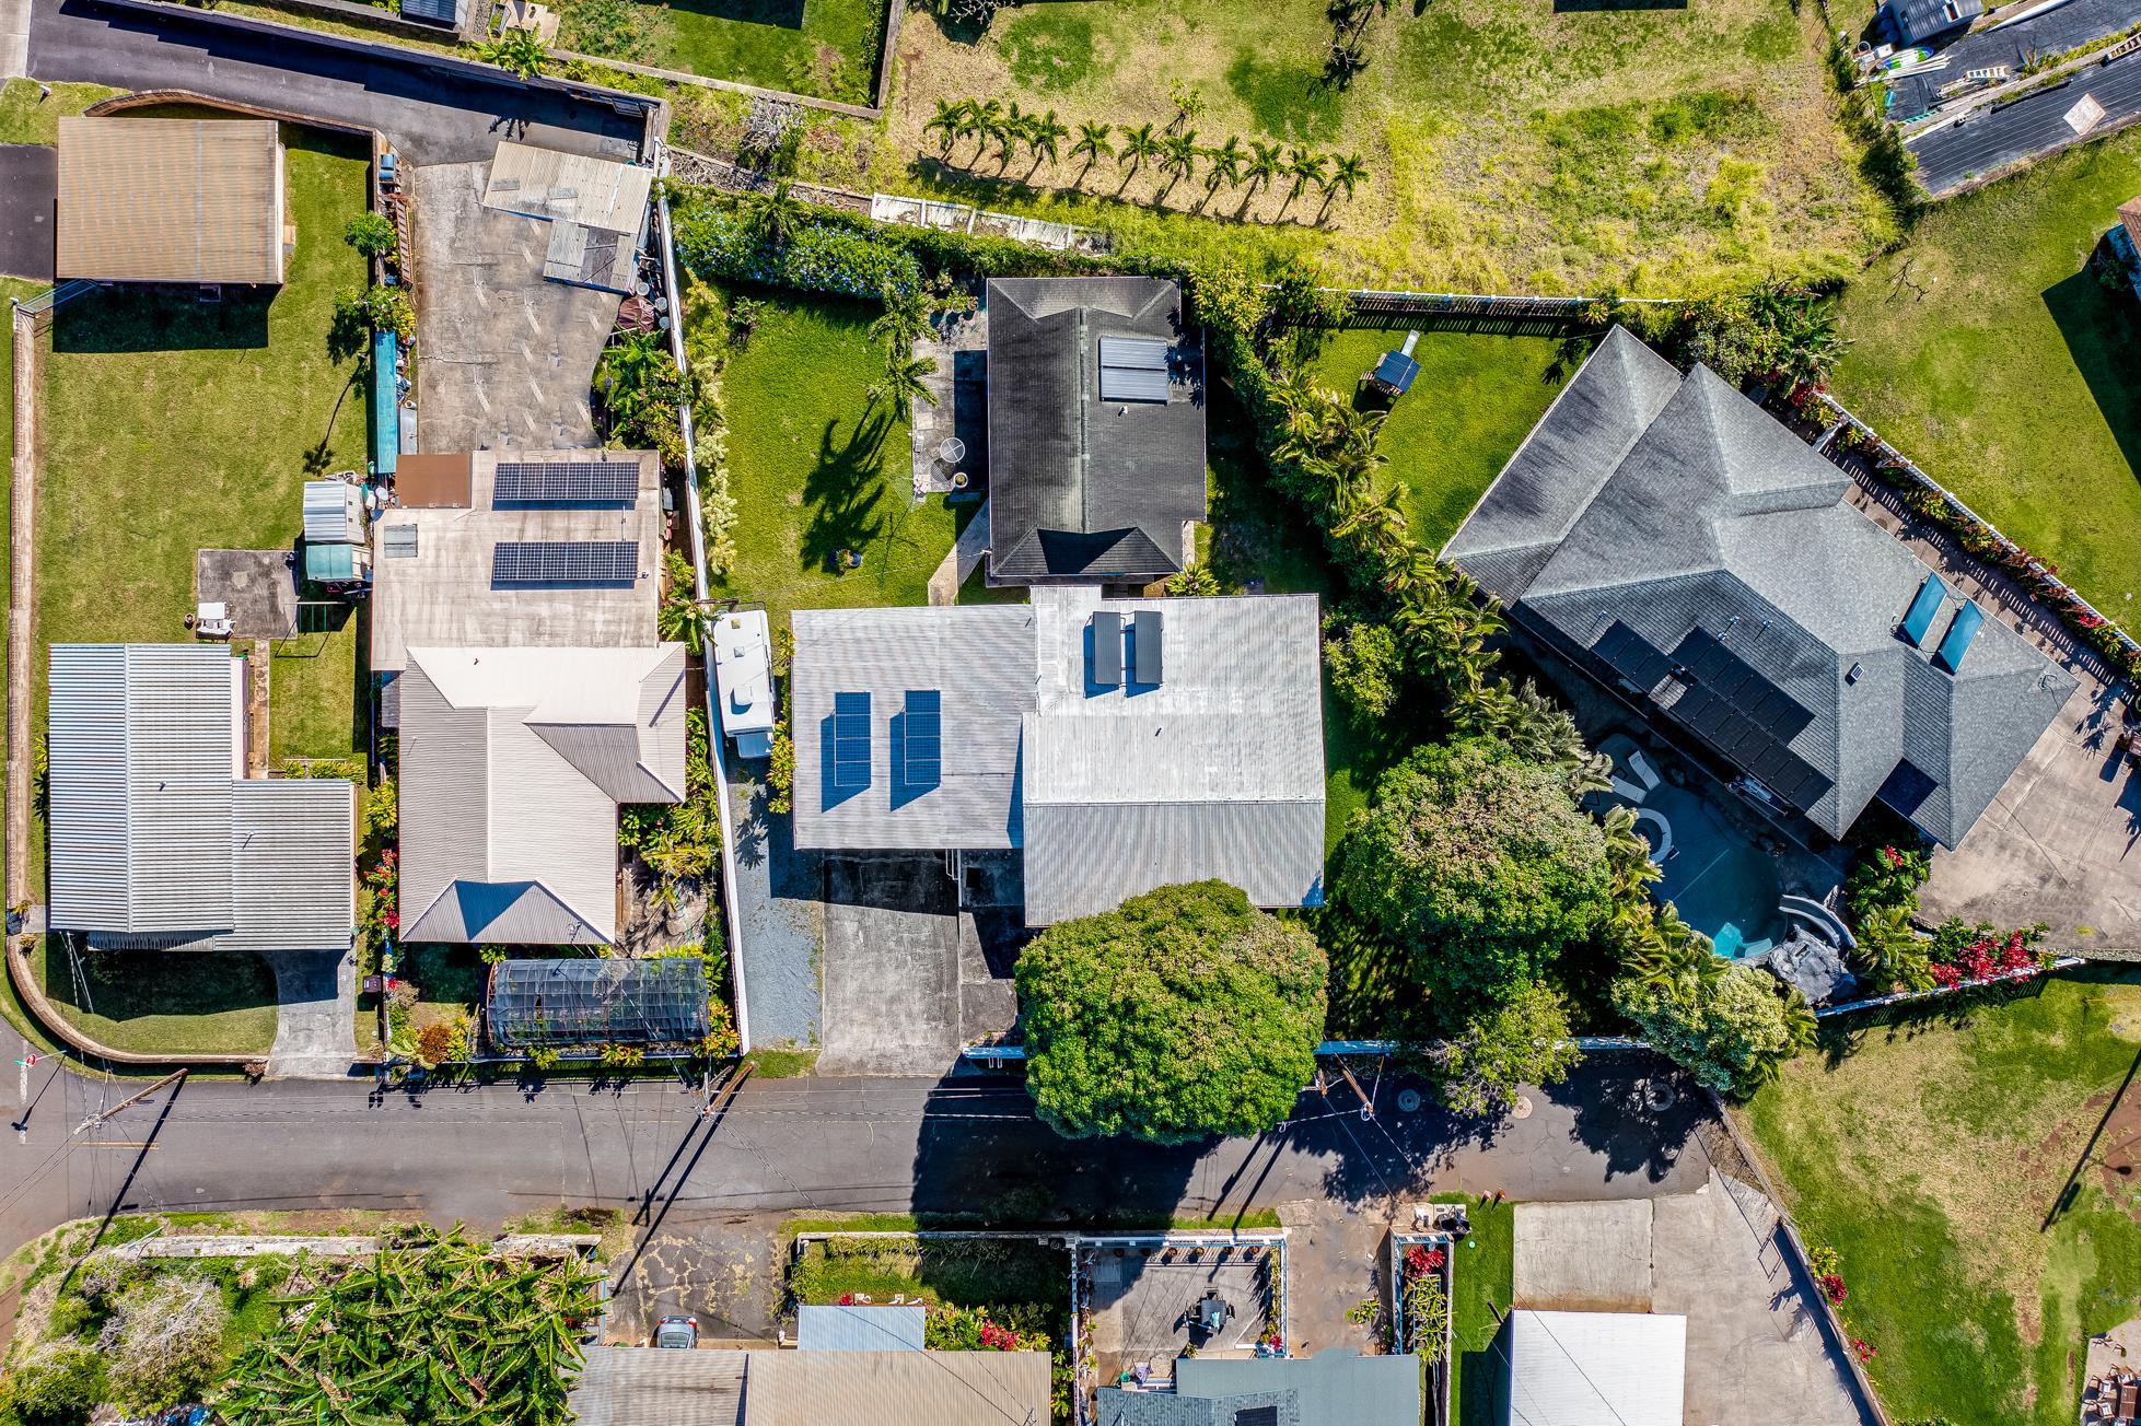
[[[1008,165],[1013,154],[1023,148],[1036,169],[1043,161],[1058,163],[1062,141],[1070,137],[1053,109],[1026,113],[1017,101],[1004,105],[996,98],[940,98],[936,113],[923,124],[923,133],[936,135],[938,152],[946,161],[955,148],[972,141],[974,152],[968,156],[968,165],[978,163],[991,150],[1002,165]],[[1308,186],[1319,188],[1325,203],[1340,193],[1351,199],[1362,180],[1368,178],[1368,165],[1360,154],[1321,154],[1261,139],[1244,146],[1233,135],[1225,143],[1201,146],[1197,131],[1182,126],[1158,131],[1152,124],[1083,122],[1077,126],[1077,141],[1068,152],[1073,161],[1083,161],[1081,182],[1094,165],[1109,161],[1122,169],[1124,178],[1133,178],[1150,165],[1167,173],[1167,186],[1173,188],[1175,182],[1195,178],[1197,167],[1203,165],[1205,195],[1220,188],[1246,188],[1248,197],[1255,197],[1257,191],[1285,182],[1287,203]]]

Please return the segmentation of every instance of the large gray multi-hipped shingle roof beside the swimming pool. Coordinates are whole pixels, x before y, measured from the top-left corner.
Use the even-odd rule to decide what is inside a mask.
[[[1614,328],[1443,555],[1811,839],[1961,841],[2075,679],[1843,501],[1850,475]]]

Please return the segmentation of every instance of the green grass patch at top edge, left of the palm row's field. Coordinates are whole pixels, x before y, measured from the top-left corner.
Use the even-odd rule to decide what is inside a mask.
[[[886,0],[563,0],[561,49],[769,90],[876,98]]]

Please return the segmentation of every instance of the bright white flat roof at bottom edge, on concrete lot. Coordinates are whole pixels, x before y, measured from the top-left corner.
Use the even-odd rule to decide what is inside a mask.
[[[1509,1315],[1509,1426],[1681,1426],[1687,1319]]]

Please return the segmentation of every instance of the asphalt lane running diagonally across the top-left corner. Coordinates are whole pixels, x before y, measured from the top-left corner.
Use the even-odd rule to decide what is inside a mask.
[[[632,156],[640,120],[510,81],[385,62],[306,39],[216,26],[169,6],[154,15],[96,0],[34,0],[30,73],[128,90],[193,90],[385,133],[409,163],[490,158],[499,139]],[[614,143],[632,148],[614,152]]]

